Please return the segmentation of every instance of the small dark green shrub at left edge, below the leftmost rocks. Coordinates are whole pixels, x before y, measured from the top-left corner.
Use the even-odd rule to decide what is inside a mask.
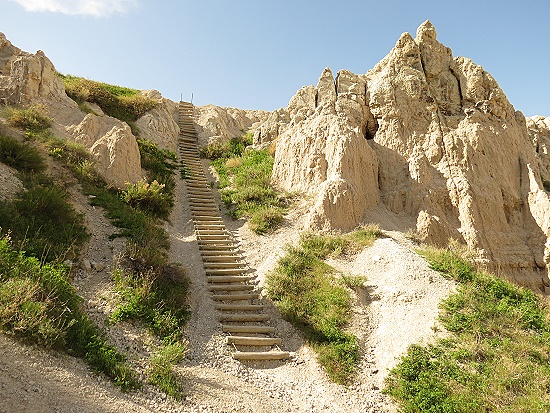
[[[24,173],[42,173],[46,170],[46,163],[36,148],[1,135],[0,162]]]

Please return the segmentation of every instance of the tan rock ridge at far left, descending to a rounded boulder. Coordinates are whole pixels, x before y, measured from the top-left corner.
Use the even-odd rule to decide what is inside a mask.
[[[26,53],[0,33],[0,104],[41,104],[53,119],[53,133],[81,142],[94,155],[99,174],[115,186],[141,176],[139,148],[128,125],[118,119],[86,115],[65,93],[62,80],[42,51]]]

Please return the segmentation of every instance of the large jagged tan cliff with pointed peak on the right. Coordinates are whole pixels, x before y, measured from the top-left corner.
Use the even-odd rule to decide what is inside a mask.
[[[529,125],[544,152],[546,124]],[[453,58],[429,21],[364,75],[326,69],[258,129],[256,144],[273,140],[273,182],[315,198],[311,229],[349,230],[376,207],[426,242],[459,239],[491,269],[548,286],[544,157],[497,82]]]

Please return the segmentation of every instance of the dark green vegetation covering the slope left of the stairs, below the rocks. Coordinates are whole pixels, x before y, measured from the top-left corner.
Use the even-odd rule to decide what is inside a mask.
[[[35,142],[0,137],[0,161],[18,169],[25,184],[14,201],[0,202],[0,225],[4,233],[9,231],[9,237],[1,239],[0,251],[3,328],[30,342],[83,357],[125,390],[141,385],[138,373],[81,310],[81,299],[70,284],[70,268],[62,262],[78,260],[88,233],[65,190],[55,177],[45,175],[46,162],[35,149],[44,145],[120,228],[113,237],[127,239],[126,252],[113,273],[120,301],[111,321],[136,320],[158,337],[160,345],[146,371],[148,381],[181,399],[183,386],[172,365],[186,351],[181,328],[189,315],[187,281],[184,270],[168,262],[169,241],[161,226],[173,206],[175,154],[141,140],[149,179],[116,190],[99,177],[88,151],[51,135],[41,108],[11,108],[5,116]],[[27,252],[18,252],[22,250]]]

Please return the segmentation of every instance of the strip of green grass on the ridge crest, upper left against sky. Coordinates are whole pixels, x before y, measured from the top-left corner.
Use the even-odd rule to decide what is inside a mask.
[[[58,76],[65,84],[67,96],[75,102],[79,104],[83,102],[95,103],[107,115],[128,122],[130,126],[133,126],[133,122],[158,104],[156,100],[141,95],[140,91],[136,89],[60,73]]]

